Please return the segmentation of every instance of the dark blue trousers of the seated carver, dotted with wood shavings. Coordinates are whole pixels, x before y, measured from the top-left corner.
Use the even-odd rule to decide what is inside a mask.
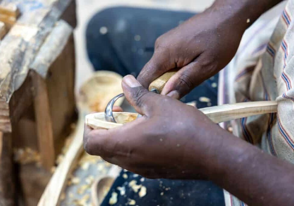
[[[193,16],[189,12],[175,12],[142,8],[109,8],[92,17],[86,31],[87,52],[95,70],[110,70],[121,75],[137,76],[154,52],[155,40],[161,34],[176,27],[182,21]],[[197,107],[208,106],[199,101],[208,97],[211,106],[217,105],[218,76],[206,80],[183,97],[183,102],[197,101]],[[224,205],[223,190],[209,181],[145,179],[126,172],[115,180],[102,205],[108,205],[112,192],[120,192],[118,186],[126,186],[126,194],[118,195],[115,205],[125,205],[128,199],[134,199],[136,205],[181,206],[181,205]],[[136,180],[147,188],[147,194],[139,198],[138,193],[128,189],[128,182]],[[166,188],[170,188],[166,190]],[[163,192],[163,195],[161,195]]]

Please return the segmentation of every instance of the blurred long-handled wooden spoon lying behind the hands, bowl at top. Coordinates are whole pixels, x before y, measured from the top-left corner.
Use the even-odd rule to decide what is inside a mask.
[[[103,77],[103,78],[102,78]],[[57,166],[50,182],[46,186],[45,191],[38,203],[38,206],[52,206],[60,203],[60,196],[69,175],[77,164],[78,157],[83,152],[83,132],[86,114],[91,113],[92,109],[97,109],[99,105],[100,111],[104,111],[107,101],[104,96],[108,97],[111,93],[111,98],[122,92],[121,89],[122,77],[114,72],[97,71],[80,89],[78,100],[79,120],[75,131],[72,143],[69,146],[67,153],[64,155],[63,161]],[[108,91],[107,92],[105,92]],[[98,94],[97,94],[98,93]],[[94,99],[91,95],[95,94]],[[118,103],[121,103],[120,100]],[[93,106],[94,105],[94,106]]]

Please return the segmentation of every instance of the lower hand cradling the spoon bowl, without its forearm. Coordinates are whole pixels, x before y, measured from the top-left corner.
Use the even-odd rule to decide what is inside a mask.
[[[221,129],[194,107],[149,92],[131,75],[122,87],[143,116],[109,130],[85,126],[86,152],[148,178],[206,178]]]

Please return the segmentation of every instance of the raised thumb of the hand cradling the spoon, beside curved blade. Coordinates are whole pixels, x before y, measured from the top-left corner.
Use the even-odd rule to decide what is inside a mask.
[[[132,75],[127,75],[123,78],[122,88],[125,97],[139,114],[151,115],[152,105],[154,105],[158,94],[149,92]]]

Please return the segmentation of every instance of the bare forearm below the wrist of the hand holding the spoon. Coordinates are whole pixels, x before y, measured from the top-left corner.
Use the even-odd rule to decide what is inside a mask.
[[[291,163],[227,132],[221,133],[224,137],[215,146],[210,170],[212,181],[249,205],[294,205]]]

